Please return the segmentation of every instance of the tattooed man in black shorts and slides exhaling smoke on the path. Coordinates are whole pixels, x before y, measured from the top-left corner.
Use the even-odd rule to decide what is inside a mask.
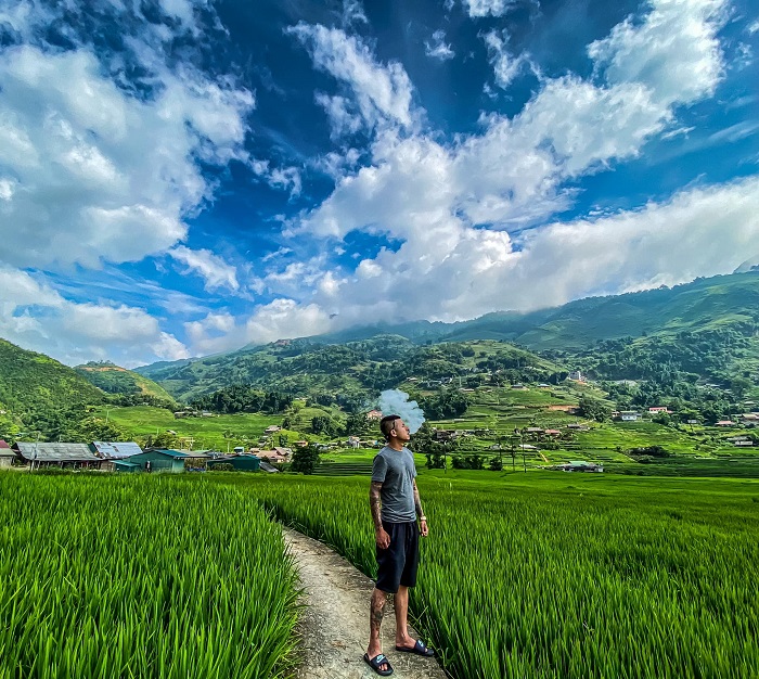
[[[380,627],[387,594],[395,594],[396,651],[432,656],[435,652],[409,636],[409,587],[416,585],[419,537],[429,529],[416,488],[414,457],[404,444],[411,438],[399,415],[380,422],[387,441],[374,458],[369,502],[374,521],[377,554],[377,581],[372,592],[369,649],[363,659],[382,677],[393,666],[382,652]],[[419,516],[419,526],[416,517]]]

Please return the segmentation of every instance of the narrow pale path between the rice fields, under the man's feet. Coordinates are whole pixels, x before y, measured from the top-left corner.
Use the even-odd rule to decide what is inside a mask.
[[[374,584],[345,559],[311,538],[285,529],[296,558],[307,604],[300,624],[305,662],[298,679],[371,679],[377,677],[363,662],[369,639],[369,600]],[[433,658],[395,650],[396,620],[388,602],[382,625],[383,649],[398,679],[445,679]],[[414,637],[417,635],[411,631]],[[308,658],[308,659],[306,659]]]

